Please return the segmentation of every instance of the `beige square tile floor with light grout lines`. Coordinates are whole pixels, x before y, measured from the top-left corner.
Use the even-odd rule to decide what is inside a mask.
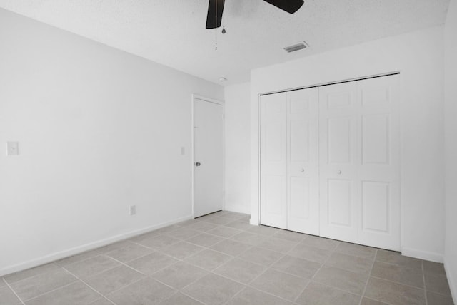
[[[453,304],[443,264],[218,212],[0,279],[0,304]]]

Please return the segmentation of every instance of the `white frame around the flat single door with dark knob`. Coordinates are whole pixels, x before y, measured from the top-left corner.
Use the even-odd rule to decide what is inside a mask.
[[[195,199],[195,128],[194,128],[194,123],[195,123],[195,115],[194,115],[194,110],[195,110],[195,100],[203,100],[204,102],[207,103],[214,103],[217,105],[221,105],[222,107],[222,209],[225,209],[226,207],[226,141],[225,141],[225,135],[226,135],[226,124],[225,124],[225,119],[226,119],[226,108],[225,108],[225,103],[223,100],[215,100],[214,98],[206,98],[202,95],[198,94],[191,94],[191,205],[192,205],[192,218],[194,218],[194,199]]]

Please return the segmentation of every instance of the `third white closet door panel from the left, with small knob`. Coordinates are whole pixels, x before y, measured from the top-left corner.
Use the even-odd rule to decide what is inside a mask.
[[[358,242],[356,82],[319,90],[321,236]]]

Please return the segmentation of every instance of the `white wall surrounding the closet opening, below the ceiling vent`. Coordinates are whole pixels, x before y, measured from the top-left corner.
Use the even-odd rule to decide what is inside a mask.
[[[305,51],[306,52],[306,51]],[[441,26],[251,71],[251,223],[258,223],[258,94],[401,71],[403,254],[443,260]]]

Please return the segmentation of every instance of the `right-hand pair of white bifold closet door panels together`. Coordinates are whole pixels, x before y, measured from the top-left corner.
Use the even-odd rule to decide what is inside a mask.
[[[398,76],[323,86],[321,236],[400,249]]]

